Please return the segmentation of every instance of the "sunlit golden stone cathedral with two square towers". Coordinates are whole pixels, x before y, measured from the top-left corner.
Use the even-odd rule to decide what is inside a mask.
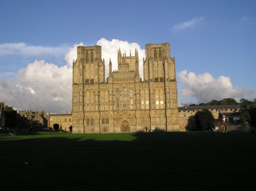
[[[78,46],[73,61],[73,133],[179,131],[175,58],[170,44],[146,44],[143,80],[139,55],[118,54],[105,79],[101,46]]]

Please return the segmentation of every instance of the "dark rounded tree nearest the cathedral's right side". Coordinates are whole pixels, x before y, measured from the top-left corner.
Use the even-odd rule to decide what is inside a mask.
[[[206,131],[214,127],[215,118],[208,109],[197,111],[194,118],[198,131]]]

